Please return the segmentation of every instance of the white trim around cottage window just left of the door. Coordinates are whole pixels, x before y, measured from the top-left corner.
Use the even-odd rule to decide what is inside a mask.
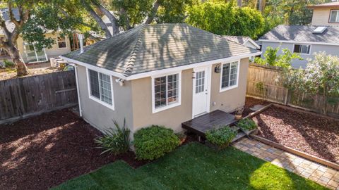
[[[168,75],[176,75],[178,74],[178,102],[177,103],[172,103],[171,105],[168,106],[162,106],[161,108],[155,108],[155,89],[154,89],[154,80],[155,78],[158,77],[167,77]],[[152,113],[158,113],[160,111],[163,110],[167,110],[170,108],[174,108],[177,106],[180,106],[182,104],[182,71],[180,70],[179,72],[169,72],[165,75],[157,75],[157,76],[151,76],[152,80],[151,80],[151,86],[152,86]],[[167,82],[167,80],[166,80]],[[167,84],[166,84],[166,89],[167,89]],[[167,94],[167,90],[166,90],[166,94]],[[167,96],[167,95],[166,95]],[[167,102],[167,99],[166,99]]]

